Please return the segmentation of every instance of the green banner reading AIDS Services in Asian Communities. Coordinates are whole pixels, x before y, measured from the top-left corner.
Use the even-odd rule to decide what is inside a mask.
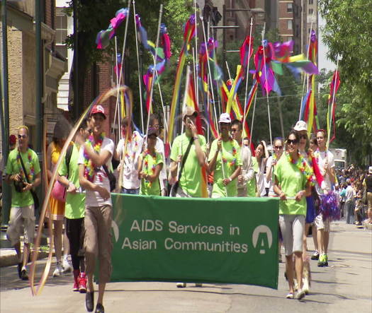
[[[278,288],[278,199],[112,199],[111,281]]]

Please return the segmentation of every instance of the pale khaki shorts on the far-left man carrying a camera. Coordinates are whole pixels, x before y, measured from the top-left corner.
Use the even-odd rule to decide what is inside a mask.
[[[32,243],[33,237],[35,236],[35,213],[33,204],[30,206],[11,208],[9,227],[8,230],[6,230],[6,236],[11,241],[12,246],[20,241],[23,228],[25,243]]]

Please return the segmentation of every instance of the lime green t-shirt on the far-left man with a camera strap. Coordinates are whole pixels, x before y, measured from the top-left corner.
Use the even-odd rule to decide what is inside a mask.
[[[9,153],[8,161],[6,162],[6,175],[15,175],[21,174],[23,182],[27,182],[25,176],[23,175],[21,161],[17,159],[18,149],[11,150]],[[38,155],[34,150],[28,148],[25,153],[21,153],[21,158],[23,160],[23,165],[26,167],[26,175],[30,175],[31,168],[33,169],[33,177],[30,180],[30,183],[35,181],[35,175],[40,173],[40,164]],[[23,207],[30,206],[33,204],[33,195],[30,191],[18,192],[14,187],[14,183],[11,182],[11,206],[12,207]]]

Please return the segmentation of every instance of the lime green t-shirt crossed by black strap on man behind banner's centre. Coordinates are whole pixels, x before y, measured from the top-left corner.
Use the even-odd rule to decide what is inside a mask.
[[[199,144],[201,150],[205,153],[205,137],[198,135]],[[181,134],[174,138],[173,145],[171,147],[171,160],[176,161],[178,155],[185,155],[190,137],[186,134]],[[181,166],[181,165],[180,165]],[[201,165],[198,163],[198,157],[196,155],[195,143],[191,145],[190,152],[186,158],[184,170],[181,173],[181,179],[179,186],[192,197],[201,197],[203,195],[203,176]]]

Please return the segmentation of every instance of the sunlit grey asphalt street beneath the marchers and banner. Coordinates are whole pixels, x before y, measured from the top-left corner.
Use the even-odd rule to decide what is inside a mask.
[[[311,237],[308,247],[313,247]],[[105,312],[372,312],[371,230],[344,221],[332,223],[329,266],[310,262],[310,295],[301,301],[285,298],[288,284],[281,263],[278,290],[229,284],[201,288],[188,284],[178,289],[175,283],[108,283],[103,305]],[[45,259],[38,261],[39,272],[44,266]],[[33,297],[28,282],[18,279],[16,266],[0,268],[1,313],[86,312],[85,295],[72,291],[72,274],[52,278],[52,270],[41,295]]]

